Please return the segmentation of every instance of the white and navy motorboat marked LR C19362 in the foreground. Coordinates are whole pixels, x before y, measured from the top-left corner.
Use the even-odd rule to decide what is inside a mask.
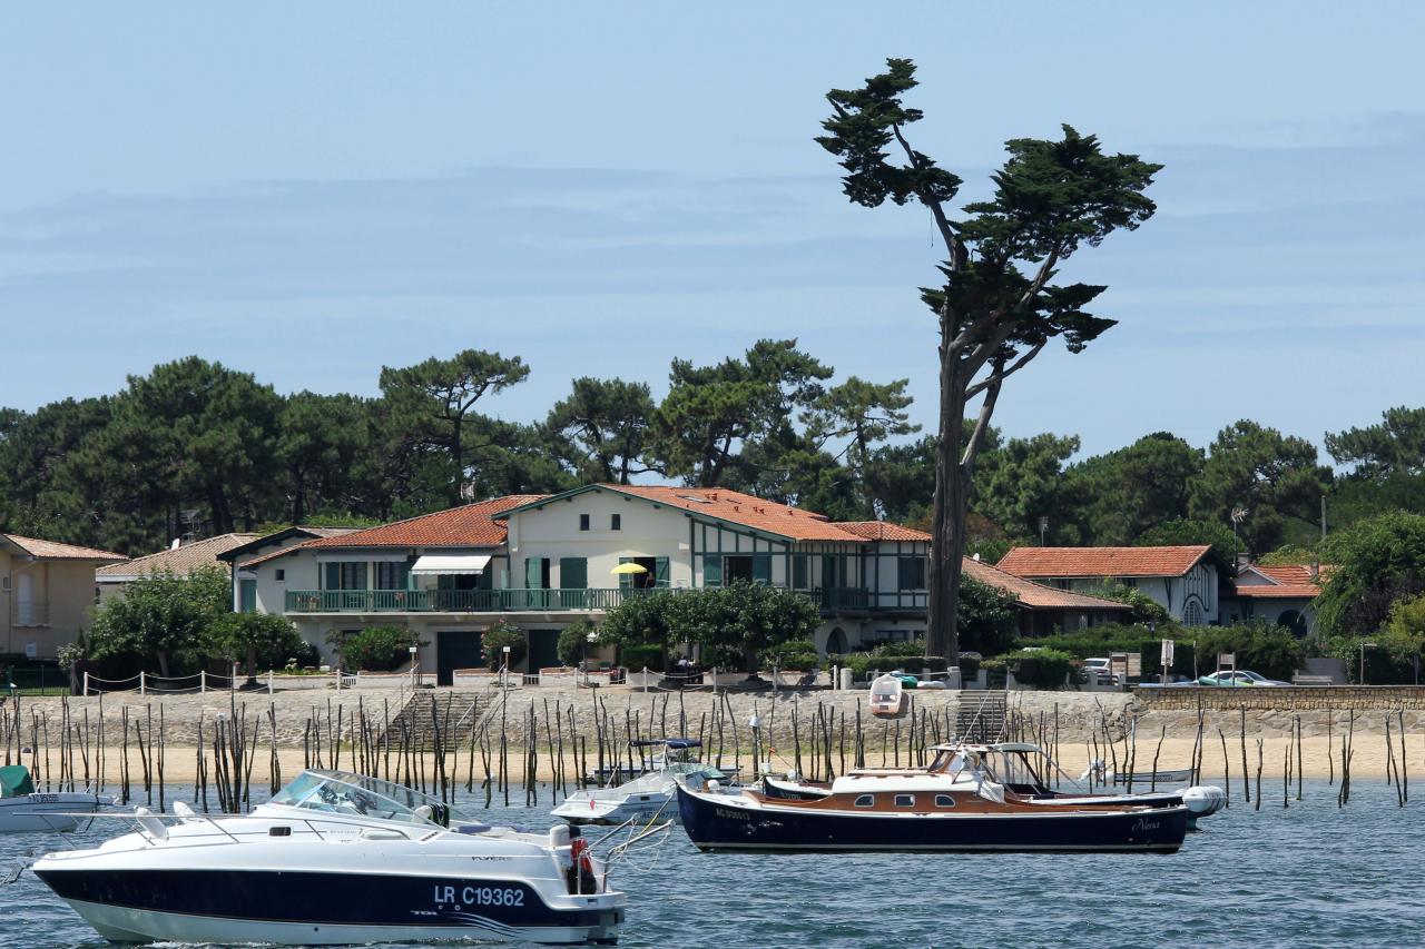
[[[569,825],[492,828],[355,774],[304,771],[247,815],[175,811],[31,869],[118,942],[610,945],[627,903]]]

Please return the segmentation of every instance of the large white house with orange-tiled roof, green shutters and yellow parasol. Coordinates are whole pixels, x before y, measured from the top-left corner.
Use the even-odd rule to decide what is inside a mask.
[[[647,587],[751,580],[822,613],[817,647],[923,636],[928,534],[826,517],[725,489],[589,484],[497,497],[322,537],[238,564],[241,608],[281,613],[323,654],[345,633],[398,624],[423,671],[480,661],[480,633],[529,636],[527,668],[557,665],[559,633]],[[616,573],[633,563],[641,573]]]

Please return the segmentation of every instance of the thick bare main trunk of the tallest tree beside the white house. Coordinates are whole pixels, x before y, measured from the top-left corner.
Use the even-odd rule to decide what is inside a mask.
[[[965,513],[969,484],[960,470],[965,440],[963,370],[956,353],[948,352],[953,325],[940,321],[940,437],[935,456],[935,510],[931,523],[929,618],[925,651],[959,665],[960,641],[956,628],[960,557],[965,553]]]

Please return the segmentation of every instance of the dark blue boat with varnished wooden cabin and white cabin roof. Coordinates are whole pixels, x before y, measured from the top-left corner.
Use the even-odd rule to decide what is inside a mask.
[[[1173,854],[1183,845],[1188,822],[1183,805],[1012,805],[973,794],[841,797],[794,801],[744,791],[730,798],[680,784],[678,809],[683,828],[701,851]]]

